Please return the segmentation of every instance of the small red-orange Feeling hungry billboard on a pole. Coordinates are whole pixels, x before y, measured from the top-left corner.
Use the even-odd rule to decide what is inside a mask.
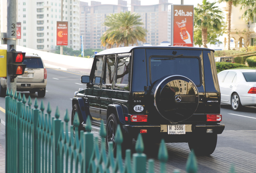
[[[57,44],[59,46],[68,45],[68,22],[57,21]]]

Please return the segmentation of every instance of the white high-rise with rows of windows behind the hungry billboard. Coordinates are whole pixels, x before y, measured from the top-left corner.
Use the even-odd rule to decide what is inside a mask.
[[[54,52],[56,22],[68,21],[68,48],[80,49],[79,0],[17,0],[17,45]]]

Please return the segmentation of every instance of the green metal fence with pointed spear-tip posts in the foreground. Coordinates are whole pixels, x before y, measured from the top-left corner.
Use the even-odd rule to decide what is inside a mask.
[[[122,133],[118,127],[116,133],[116,157],[112,149],[105,148],[105,128],[101,123],[98,137],[91,133],[91,122],[88,118],[86,132],[78,135],[79,119],[76,115],[74,126],[76,135],[73,137],[73,127],[68,127],[69,115],[66,111],[64,121],[59,119],[60,113],[56,108],[55,117],[51,117],[51,107],[47,110],[43,101],[41,106],[35,98],[34,108],[31,108],[31,98],[25,95],[17,96],[11,91],[6,93],[6,173],[153,173],[154,160],[143,153],[144,145],[141,135],[136,141],[136,153],[126,150],[122,157]],[[79,137],[80,136],[80,137]],[[113,147],[110,144],[110,148]],[[168,160],[167,149],[161,141],[158,159],[160,172],[165,173],[165,163]],[[194,153],[190,153],[186,170],[196,173],[197,164]],[[178,173],[178,170],[174,170]]]

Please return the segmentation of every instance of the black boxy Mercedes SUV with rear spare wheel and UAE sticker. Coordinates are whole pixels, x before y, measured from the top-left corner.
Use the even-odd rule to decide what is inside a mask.
[[[130,46],[95,55],[86,89],[72,99],[73,124],[78,113],[85,127],[104,122],[106,143],[115,142],[119,124],[123,147],[139,133],[159,142],[187,142],[197,155],[210,155],[217,144],[221,94],[214,50],[194,47]],[[147,144],[146,144],[147,145]],[[115,143],[114,143],[115,146]]]

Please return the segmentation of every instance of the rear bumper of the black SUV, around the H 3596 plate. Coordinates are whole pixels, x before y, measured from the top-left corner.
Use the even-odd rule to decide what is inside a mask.
[[[128,133],[132,138],[135,138],[140,133],[140,130],[147,129],[147,133],[142,135],[149,137],[153,140],[165,139],[166,142],[188,142],[190,137],[195,134],[207,134],[206,130],[211,129],[212,133],[209,134],[221,134],[225,129],[223,124],[214,125],[186,125],[186,134],[184,135],[168,135],[167,125],[157,125],[157,126],[135,126],[135,125],[123,125],[124,131]]]

